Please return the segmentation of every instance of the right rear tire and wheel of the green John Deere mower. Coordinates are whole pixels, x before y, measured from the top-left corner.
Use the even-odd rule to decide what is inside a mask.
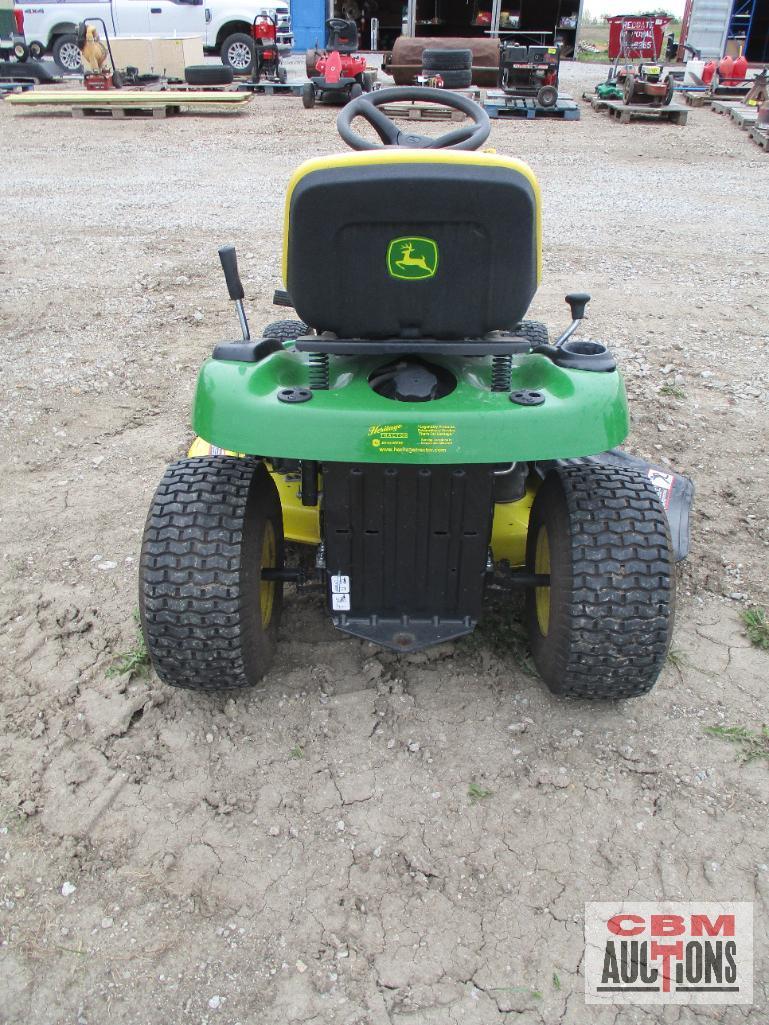
[[[534,664],[554,694],[646,694],[664,664],[675,606],[667,519],[637,470],[571,463],[536,494],[526,568],[550,587],[526,592]]]

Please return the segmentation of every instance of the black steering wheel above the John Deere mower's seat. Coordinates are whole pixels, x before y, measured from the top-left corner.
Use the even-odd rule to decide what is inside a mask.
[[[473,124],[454,128],[438,138],[403,132],[379,108],[385,104],[397,104],[404,99],[430,100],[440,104],[441,107],[461,111],[472,119]],[[369,142],[353,131],[352,123],[358,117],[368,121],[381,139],[381,144]],[[482,107],[457,92],[404,85],[392,89],[379,89],[377,92],[366,92],[357,99],[352,99],[339,111],[336,129],[353,150],[381,150],[388,146],[400,146],[407,150],[478,150],[489,137],[491,122]]]

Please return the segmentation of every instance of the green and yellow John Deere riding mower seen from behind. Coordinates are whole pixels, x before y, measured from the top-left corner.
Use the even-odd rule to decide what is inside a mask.
[[[379,108],[410,99],[472,123],[405,133]],[[243,337],[203,364],[199,438],[166,470],[141,549],[159,675],[254,684],[284,586],[314,578],[339,630],[397,652],[470,633],[489,586],[522,589],[551,690],[644,694],[671,639],[691,485],[608,451],[628,404],[611,354],[574,337],[589,296],[567,296],[555,341],[525,320],[541,270],[532,171],[471,152],[488,117],[444,90],[359,97],[337,127],[357,152],[302,164],[286,198],[275,298],[301,320],[252,337],[220,250]],[[286,541],[308,558],[289,565]]]

